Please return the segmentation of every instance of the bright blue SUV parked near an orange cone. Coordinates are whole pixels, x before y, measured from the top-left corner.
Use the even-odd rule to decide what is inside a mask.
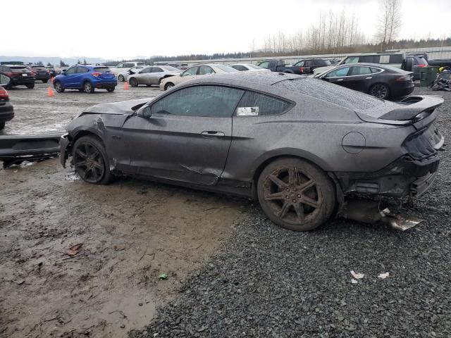
[[[113,92],[117,84],[110,68],[104,65],[73,65],[54,78],[54,87],[58,93],[64,92],[64,89],[78,89],[91,94],[96,88]]]

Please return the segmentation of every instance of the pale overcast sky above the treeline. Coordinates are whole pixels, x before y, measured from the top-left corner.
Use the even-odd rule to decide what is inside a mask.
[[[399,37],[451,36],[450,2],[402,0]],[[123,59],[249,51],[252,39],[259,46],[269,34],[307,30],[321,11],[343,7],[373,37],[377,0],[4,0],[0,55]]]

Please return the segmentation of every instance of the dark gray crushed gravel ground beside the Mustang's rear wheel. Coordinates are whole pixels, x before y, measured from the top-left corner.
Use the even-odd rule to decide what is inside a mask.
[[[445,96],[438,126],[450,139],[451,93],[414,94]],[[426,223],[407,232],[331,220],[295,233],[248,207],[180,296],[129,337],[451,337],[449,150],[440,156],[408,211]],[[353,283],[351,270],[364,277]]]

